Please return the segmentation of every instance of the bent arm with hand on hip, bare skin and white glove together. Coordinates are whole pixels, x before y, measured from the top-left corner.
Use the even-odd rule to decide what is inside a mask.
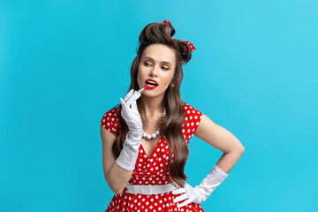
[[[205,201],[216,187],[228,177],[228,172],[234,164],[238,162],[239,157],[245,151],[242,144],[233,134],[222,126],[216,125],[203,114],[201,116],[201,122],[194,134],[214,148],[220,149],[224,154],[218,163],[216,163],[215,167],[208,173],[208,176],[201,181],[200,186],[193,188],[185,183],[183,188],[172,192],[172,194],[183,193],[173,200],[174,202],[183,201],[181,204],[178,204],[178,208],[190,202],[200,203],[201,201]]]

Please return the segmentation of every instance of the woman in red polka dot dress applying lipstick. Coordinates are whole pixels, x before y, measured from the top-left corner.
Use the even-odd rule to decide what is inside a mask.
[[[168,20],[141,31],[129,92],[102,117],[104,176],[116,193],[106,212],[203,211],[200,202],[223,182],[244,152],[234,135],[182,102],[182,64],[195,48],[173,34]],[[137,93],[145,82],[148,88]],[[224,153],[195,187],[186,183],[184,173],[193,134]]]

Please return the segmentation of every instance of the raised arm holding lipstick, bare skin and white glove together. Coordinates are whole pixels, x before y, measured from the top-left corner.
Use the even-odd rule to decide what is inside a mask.
[[[123,192],[131,178],[139,154],[142,138],[142,121],[136,102],[139,97],[140,94],[131,89],[124,100],[120,98],[121,116],[125,119],[129,132],[125,136],[123,149],[117,159],[111,153],[116,136],[101,126],[104,176],[110,189],[117,194]]]

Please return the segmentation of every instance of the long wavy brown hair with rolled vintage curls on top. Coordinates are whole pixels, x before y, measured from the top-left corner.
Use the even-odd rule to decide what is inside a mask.
[[[168,177],[168,169],[171,165],[170,174],[173,180],[179,185],[184,186],[186,181],[186,175],[184,173],[186,160],[189,155],[189,151],[186,145],[186,140],[182,134],[182,124],[184,123],[184,107],[180,96],[180,86],[183,79],[182,64],[186,64],[191,59],[191,50],[186,42],[181,40],[173,41],[171,37],[175,34],[176,30],[165,23],[151,23],[142,29],[139,37],[139,47],[137,50],[137,57],[134,58],[131,67],[131,85],[127,92],[131,89],[138,90],[140,87],[137,82],[138,68],[140,64],[140,57],[144,49],[154,43],[160,43],[173,49],[176,55],[176,69],[171,84],[174,87],[169,86],[165,91],[163,98],[163,108],[166,109],[166,116],[161,117],[158,121],[161,135],[164,135],[167,139],[167,144],[170,148],[169,162],[165,171],[166,178],[169,179],[170,183],[174,184],[173,181]],[[186,49],[186,52],[184,51]],[[140,107],[140,99],[137,100],[138,110],[143,123],[147,123],[145,111]],[[119,104],[120,105],[120,104]],[[121,111],[121,107],[120,110]],[[120,114],[120,112],[119,112]],[[125,119],[118,116],[119,124],[121,129],[112,146],[112,153],[117,158],[123,148],[125,142],[125,136],[129,129],[125,123]],[[174,161],[171,163],[172,149],[174,149]]]

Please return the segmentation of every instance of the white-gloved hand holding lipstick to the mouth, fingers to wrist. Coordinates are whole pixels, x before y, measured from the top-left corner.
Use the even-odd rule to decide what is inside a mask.
[[[120,98],[122,105],[121,116],[125,119],[129,131],[138,135],[142,135],[143,133],[142,121],[136,101],[140,95],[141,94],[138,94],[137,91],[131,89],[125,96],[124,100]]]

